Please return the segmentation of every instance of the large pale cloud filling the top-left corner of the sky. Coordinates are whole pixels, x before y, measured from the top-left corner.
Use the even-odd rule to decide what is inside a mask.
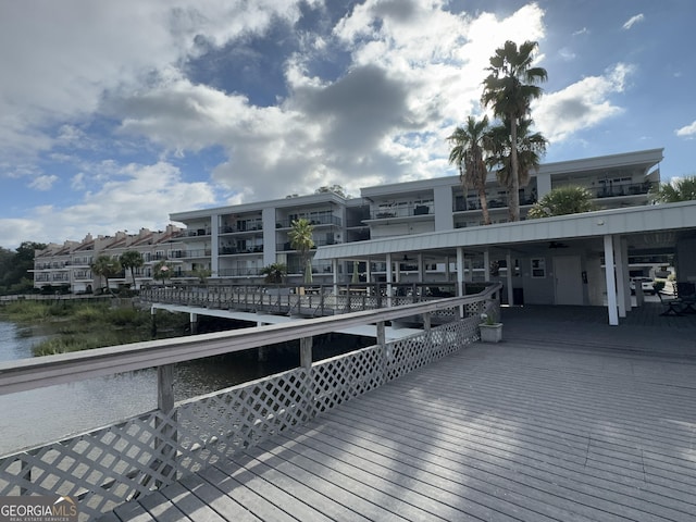
[[[299,15],[295,0],[0,2],[0,152],[48,150],[57,122],[59,142],[75,138],[65,122],[94,114],[104,92],[139,89],[153,71]]]

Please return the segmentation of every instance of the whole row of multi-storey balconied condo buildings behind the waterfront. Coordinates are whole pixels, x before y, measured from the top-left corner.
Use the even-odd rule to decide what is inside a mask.
[[[521,216],[544,195],[557,187],[575,185],[587,188],[599,209],[646,206],[649,190],[659,184],[659,163],[663,149],[546,163],[532,172],[530,183],[520,190]],[[495,175],[487,181],[486,199],[493,223],[508,221],[505,187]],[[262,269],[272,263],[287,266],[288,281],[304,276],[300,252],[289,239],[293,222],[304,217],[313,225],[316,248],[383,238],[408,237],[483,224],[478,195],[463,190],[459,176],[365,187],[356,198],[334,192],[192,210],[170,214],[165,232],[140,231],[137,235],[116,233],[114,237],[88,236],[83,241],[51,245],[37,252],[35,286],[70,285],[72,291],[90,291],[101,282],[91,276],[89,265],[100,254],[119,257],[126,250],[147,256],[146,265],[136,273],[136,287],[152,284],[152,264],[166,260],[172,265],[172,282],[197,281],[197,273],[210,274],[210,283],[245,284],[263,281]],[[319,257],[318,257],[319,258]],[[648,259],[649,258],[649,259]],[[360,259],[360,261],[358,261]],[[450,279],[457,270],[448,259],[415,263],[415,259],[398,261],[398,274],[420,279]],[[645,264],[659,262],[646,257]],[[501,264],[505,264],[501,263]],[[481,262],[465,268],[473,277]],[[487,269],[486,269],[487,270]],[[385,281],[390,268],[384,260],[356,261],[312,260],[312,277],[316,284],[355,281]],[[112,286],[132,282],[130,274],[110,279]],[[397,277],[399,277],[397,275]]]

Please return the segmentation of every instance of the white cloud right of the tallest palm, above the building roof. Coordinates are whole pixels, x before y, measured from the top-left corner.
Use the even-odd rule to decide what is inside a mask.
[[[558,142],[620,114],[623,109],[612,104],[609,97],[624,90],[633,71],[633,66],[619,63],[602,76],[589,76],[546,94],[533,110],[536,125],[550,142]]]

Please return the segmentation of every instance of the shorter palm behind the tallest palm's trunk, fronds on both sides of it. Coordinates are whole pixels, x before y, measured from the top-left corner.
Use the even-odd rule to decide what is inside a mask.
[[[498,183],[507,188],[508,199],[512,195],[512,151],[518,154],[518,203],[519,188],[530,183],[532,171],[539,167],[542,157],[546,153],[548,141],[542,133],[531,133],[531,119],[522,119],[518,122],[518,145],[512,147],[510,141],[510,123],[504,122],[490,127],[487,141],[492,154],[487,159],[488,166],[496,170]],[[512,206],[508,203],[510,221],[517,221],[512,213]],[[518,207],[519,216],[519,207]]]

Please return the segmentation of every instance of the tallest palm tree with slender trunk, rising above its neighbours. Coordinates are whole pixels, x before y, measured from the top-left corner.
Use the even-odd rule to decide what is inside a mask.
[[[484,79],[482,103],[490,105],[496,116],[510,122],[510,142],[518,144],[518,125],[530,112],[532,100],[542,96],[537,84],[547,79],[546,70],[532,67],[533,52],[538,47],[536,41],[525,41],[518,49],[513,41],[496,49],[490,57],[490,74]],[[512,221],[520,220],[520,178],[518,148],[510,150],[510,214]]]

